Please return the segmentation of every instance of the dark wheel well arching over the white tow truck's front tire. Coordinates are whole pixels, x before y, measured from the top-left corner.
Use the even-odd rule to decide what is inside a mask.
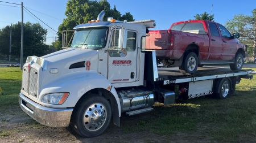
[[[115,100],[115,97],[113,96],[113,94],[111,92],[109,92],[108,90],[103,89],[103,88],[95,88],[95,89],[89,90],[84,95],[82,95],[82,97],[79,99],[79,101],[77,101],[77,103],[74,107],[71,119],[72,119],[73,115],[75,114],[76,109],[79,107],[80,103],[86,97],[90,96],[91,93],[97,94],[99,96],[103,96],[104,98],[106,98],[109,101],[111,109],[112,109],[112,116],[113,116],[113,119],[114,119],[114,124],[119,125],[120,122],[119,122],[119,110],[118,110],[117,101]]]

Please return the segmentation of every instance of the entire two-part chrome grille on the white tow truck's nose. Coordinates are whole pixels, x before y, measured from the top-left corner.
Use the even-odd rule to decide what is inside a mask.
[[[31,68],[29,72],[28,67],[23,67],[22,90],[36,97],[38,92],[38,71],[35,68]]]

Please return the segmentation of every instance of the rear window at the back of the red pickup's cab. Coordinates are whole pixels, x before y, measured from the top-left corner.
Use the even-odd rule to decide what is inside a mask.
[[[172,26],[171,30],[190,32],[190,33],[196,33],[196,34],[201,34],[201,33],[205,34],[203,23],[176,24],[176,25]]]

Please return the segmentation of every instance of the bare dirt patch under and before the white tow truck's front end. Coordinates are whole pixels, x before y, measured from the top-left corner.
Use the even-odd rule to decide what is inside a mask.
[[[147,118],[144,114],[143,118]],[[142,118],[142,119],[143,119]],[[137,123],[138,118],[121,118],[121,127],[113,124],[98,137],[82,138],[69,128],[50,128],[41,125],[26,115],[18,106],[0,111],[1,142],[210,142],[211,138],[196,135],[197,133],[176,133],[171,136],[156,135],[150,131],[128,132],[127,124]]]

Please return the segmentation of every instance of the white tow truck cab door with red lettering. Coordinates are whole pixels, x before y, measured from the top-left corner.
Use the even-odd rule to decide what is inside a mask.
[[[135,81],[137,76],[137,37],[136,31],[112,30],[108,53],[108,80],[111,83]]]

